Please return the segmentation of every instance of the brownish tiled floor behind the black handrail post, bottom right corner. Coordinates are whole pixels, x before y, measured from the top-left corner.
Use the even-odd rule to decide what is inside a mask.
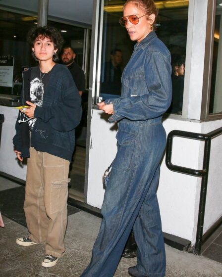
[[[222,263],[222,225],[204,243],[201,254]]]

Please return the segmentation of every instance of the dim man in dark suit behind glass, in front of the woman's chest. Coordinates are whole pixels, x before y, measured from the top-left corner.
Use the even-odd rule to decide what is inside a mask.
[[[104,78],[101,84],[101,93],[121,94],[121,63],[122,51],[118,48],[112,49],[110,61],[104,64]]]

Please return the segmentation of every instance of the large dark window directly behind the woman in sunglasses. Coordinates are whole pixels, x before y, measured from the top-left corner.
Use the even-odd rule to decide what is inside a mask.
[[[105,99],[121,94],[120,76],[136,42],[130,41],[125,28],[119,25],[125,1],[104,1],[103,45],[101,58],[100,96]],[[173,101],[168,112],[181,114],[184,66],[187,39],[188,0],[155,1],[159,8],[157,35],[171,52]]]

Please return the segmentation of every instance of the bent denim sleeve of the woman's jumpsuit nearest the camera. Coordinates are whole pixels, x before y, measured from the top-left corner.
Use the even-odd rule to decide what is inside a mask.
[[[110,122],[127,118],[133,121],[147,120],[161,116],[171,102],[171,65],[170,58],[160,52],[148,53],[144,63],[147,92],[140,96],[108,99],[114,114]]]

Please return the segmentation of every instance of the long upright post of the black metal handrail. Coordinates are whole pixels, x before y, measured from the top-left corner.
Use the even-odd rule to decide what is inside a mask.
[[[202,180],[201,180],[201,190],[200,190],[201,193],[200,193],[199,213],[198,213],[198,222],[197,222],[196,243],[195,243],[195,250],[194,250],[194,253],[198,255],[200,255],[202,238],[203,238],[210,153],[211,153],[211,138],[208,137],[205,140],[205,145],[204,145],[203,169],[206,170],[206,174],[202,176]]]

